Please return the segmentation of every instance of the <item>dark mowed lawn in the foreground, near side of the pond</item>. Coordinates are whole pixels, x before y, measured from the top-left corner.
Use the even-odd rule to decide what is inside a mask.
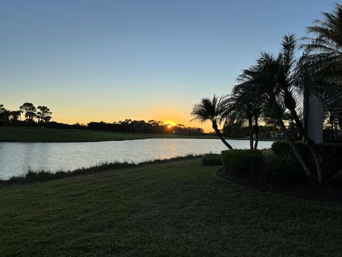
[[[0,256],[341,256],[342,206],[199,159],[0,188]]]

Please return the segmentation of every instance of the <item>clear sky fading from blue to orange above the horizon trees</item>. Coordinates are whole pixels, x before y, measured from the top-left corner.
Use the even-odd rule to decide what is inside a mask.
[[[53,121],[190,123],[261,51],[304,36],[328,0],[0,0],[0,104]]]

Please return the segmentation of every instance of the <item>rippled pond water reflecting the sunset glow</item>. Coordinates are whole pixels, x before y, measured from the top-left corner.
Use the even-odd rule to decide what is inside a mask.
[[[234,148],[249,148],[247,140],[228,140]],[[271,141],[260,141],[259,149]],[[220,153],[226,146],[216,139],[150,138],[90,143],[0,143],[0,179],[33,171],[68,171],[99,163],[140,163],[188,154]]]

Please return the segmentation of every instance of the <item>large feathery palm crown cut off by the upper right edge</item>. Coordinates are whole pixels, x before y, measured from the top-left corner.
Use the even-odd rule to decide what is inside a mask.
[[[336,3],[332,13],[322,13],[307,29],[302,40],[301,59],[306,74],[306,91],[318,96],[334,96],[342,89],[342,6]]]

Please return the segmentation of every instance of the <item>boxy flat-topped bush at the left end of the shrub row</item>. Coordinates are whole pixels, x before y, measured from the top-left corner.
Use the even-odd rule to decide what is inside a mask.
[[[257,177],[263,167],[260,150],[222,151],[222,162],[229,176]]]

